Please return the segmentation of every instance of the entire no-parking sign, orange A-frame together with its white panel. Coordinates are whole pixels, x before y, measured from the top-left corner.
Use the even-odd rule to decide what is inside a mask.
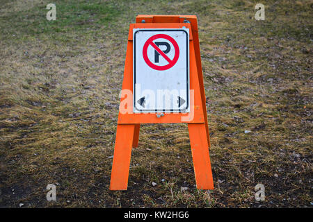
[[[197,188],[214,189],[197,24],[195,15],[138,15],[130,24],[111,190],[127,189],[143,123],[188,123]]]

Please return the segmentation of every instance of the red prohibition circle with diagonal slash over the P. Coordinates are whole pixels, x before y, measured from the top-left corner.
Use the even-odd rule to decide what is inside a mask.
[[[168,58],[168,56],[166,56],[166,53],[163,53],[163,51],[156,45],[154,44],[154,40],[157,40],[159,38],[162,38],[162,39],[166,39],[168,41],[170,41],[170,43],[172,43],[172,45],[174,46],[174,49],[175,49],[175,56],[174,58],[171,60],[170,58]],[[147,56],[147,48],[148,46],[152,46],[166,61],[168,61],[168,65],[155,65],[153,64],[148,56]],[[163,70],[166,70],[166,69],[170,69],[172,68],[177,60],[179,58],[179,46],[177,44],[177,42],[172,38],[170,37],[170,35],[165,35],[165,34],[157,34],[157,35],[153,35],[152,37],[150,37],[147,42],[145,42],[145,44],[143,45],[143,59],[145,60],[145,62],[147,63],[148,66],[150,66],[152,69],[156,69],[156,70],[160,70],[160,71],[163,71]]]

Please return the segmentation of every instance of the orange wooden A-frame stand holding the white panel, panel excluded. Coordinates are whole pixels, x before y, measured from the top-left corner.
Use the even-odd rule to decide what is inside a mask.
[[[120,106],[110,189],[127,189],[131,148],[138,146],[141,123],[188,123],[197,188],[214,189],[209,157],[209,128],[207,123],[207,108],[205,104],[197,17],[193,15],[138,15],[136,17],[136,24],[131,24],[129,28],[122,84],[122,89],[129,89],[131,92],[133,92],[134,28],[189,28],[190,89],[193,91],[190,109],[191,112],[193,112],[193,118],[188,119],[188,113],[165,113],[163,117],[157,117],[155,113],[124,113],[121,112]],[[124,99],[132,101],[132,98],[122,98],[121,103]],[[134,103],[130,104],[132,105]],[[184,118],[187,120],[182,121]]]

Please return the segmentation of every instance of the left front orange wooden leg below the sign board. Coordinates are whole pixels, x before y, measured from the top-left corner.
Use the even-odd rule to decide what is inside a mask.
[[[116,129],[111,190],[127,190],[134,131],[135,124],[118,124]]]

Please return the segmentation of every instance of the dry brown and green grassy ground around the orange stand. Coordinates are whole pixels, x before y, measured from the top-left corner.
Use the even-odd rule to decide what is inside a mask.
[[[0,207],[312,207],[313,1],[264,1],[264,21],[248,0],[54,1],[56,21],[48,3],[0,1]],[[143,125],[128,190],[109,190],[139,14],[198,17],[212,191],[186,124]]]

